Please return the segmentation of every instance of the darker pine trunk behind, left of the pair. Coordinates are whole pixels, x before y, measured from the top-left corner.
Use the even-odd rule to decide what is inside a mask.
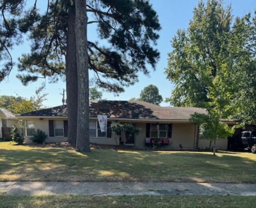
[[[68,104],[68,142],[76,147],[77,124],[77,69],[76,69],[76,34],[75,7],[68,9],[68,32],[66,50],[66,91]]]

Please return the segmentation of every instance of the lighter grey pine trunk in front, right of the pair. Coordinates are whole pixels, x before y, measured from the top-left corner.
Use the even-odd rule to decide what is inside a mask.
[[[89,140],[89,76],[87,53],[86,0],[75,0],[76,5],[76,63],[78,74],[78,113],[76,151],[90,152]]]

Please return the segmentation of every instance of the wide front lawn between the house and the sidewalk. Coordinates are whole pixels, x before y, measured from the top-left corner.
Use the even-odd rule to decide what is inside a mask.
[[[256,183],[256,154],[124,151],[0,143],[0,181]]]

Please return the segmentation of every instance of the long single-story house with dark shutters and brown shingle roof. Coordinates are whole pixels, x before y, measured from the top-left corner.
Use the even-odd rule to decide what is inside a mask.
[[[172,149],[198,149],[208,147],[209,141],[198,140],[198,125],[189,121],[193,113],[206,110],[193,107],[160,107],[144,101],[90,101],[89,134],[91,143],[118,145],[111,131],[101,132],[97,115],[107,115],[108,127],[114,123],[132,123],[140,132],[133,135],[125,145],[144,147],[145,138],[168,138]],[[68,135],[67,106],[42,109],[17,116],[25,121],[25,143],[36,129],[48,134],[47,142],[62,142]],[[124,133],[121,134],[124,140]],[[207,145],[205,144],[207,143]],[[217,149],[227,149],[227,139],[216,142]]]

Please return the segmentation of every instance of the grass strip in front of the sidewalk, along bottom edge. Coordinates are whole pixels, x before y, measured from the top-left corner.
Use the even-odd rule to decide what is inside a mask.
[[[255,207],[256,196],[8,196],[1,208],[242,208]]]

